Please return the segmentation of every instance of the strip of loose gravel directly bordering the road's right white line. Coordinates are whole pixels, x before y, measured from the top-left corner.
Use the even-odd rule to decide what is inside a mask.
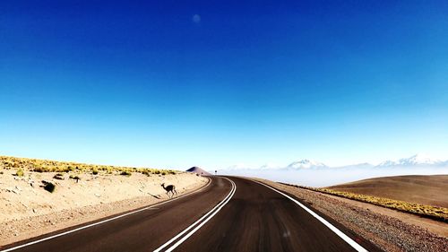
[[[266,179],[252,178],[277,188],[327,216],[333,222],[386,251],[444,251],[448,239],[405,220],[375,213],[347,200],[326,196],[306,189],[291,187]],[[328,219],[327,219],[328,220]],[[328,220],[330,221],[330,220]]]

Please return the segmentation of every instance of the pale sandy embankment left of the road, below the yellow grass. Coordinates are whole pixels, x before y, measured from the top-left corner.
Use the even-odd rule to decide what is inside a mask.
[[[161,183],[175,185],[181,196],[209,181],[187,172],[17,171],[0,169],[0,245],[166,200]],[[56,186],[52,193],[44,188],[48,183]]]

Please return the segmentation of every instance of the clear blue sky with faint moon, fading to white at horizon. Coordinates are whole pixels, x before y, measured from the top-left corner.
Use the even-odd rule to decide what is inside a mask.
[[[447,1],[2,1],[0,154],[206,169],[448,153]]]

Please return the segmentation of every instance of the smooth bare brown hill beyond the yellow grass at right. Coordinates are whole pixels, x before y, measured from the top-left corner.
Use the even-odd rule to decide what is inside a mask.
[[[369,178],[329,189],[448,207],[448,175]]]

